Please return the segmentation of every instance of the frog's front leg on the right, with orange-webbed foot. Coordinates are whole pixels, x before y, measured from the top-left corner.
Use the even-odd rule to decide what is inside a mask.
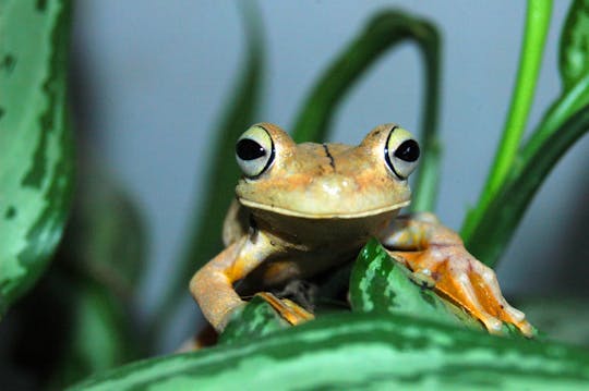
[[[532,334],[524,313],[503,297],[494,271],[470,255],[460,236],[434,215],[399,217],[381,240],[392,256],[430,279],[436,291],[466,308],[490,332],[498,333],[506,321]]]

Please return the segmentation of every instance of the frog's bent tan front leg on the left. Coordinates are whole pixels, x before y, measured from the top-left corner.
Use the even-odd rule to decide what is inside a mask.
[[[255,232],[232,243],[194,274],[190,292],[215,330],[223,331],[231,314],[245,304],[235,291],[233,283],[274,252],[266,235]]]

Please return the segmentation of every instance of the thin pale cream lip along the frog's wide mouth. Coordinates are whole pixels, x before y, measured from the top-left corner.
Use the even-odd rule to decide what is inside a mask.
[[[279,213],[279,215],[284,215],[284,216],[300,217],[300,218],[304,218],[304,219],[358,219],[358,218],[363,218],[363,217],[369,217],[369,216],[376,216],[376,215],[381,215],[381,213],[386,213],[386,212],[399,210],[399,209],[408,206],[409,204],[411,204],[411,200],[408,199],[408,200],[405,200],[405,201],[401,201],[401,203],[387,205],[387,206],[382,207],[382,208],[374,208],[374,209],[368,209],[368,210],[354,211],[354,212],[349,212],[348,213],[348,212],[340,212],[340,211],[335,211],[335,212],[329,212],[329,211],[325,211],[325,212],[304,212],[304,211],[299,211],[299,210],[280,208],[280,207],[273,206],[273,205],[267,205],[267,204],[260,204],[260,203],[255,203],[255,201],[248,200],[248,199],[244,199],[244,198],[238,198],[238,200],[239,200],[239,203],[241,205],[243,205],[243,206],[245,206],[248,208],[268,210],[268,211]]]

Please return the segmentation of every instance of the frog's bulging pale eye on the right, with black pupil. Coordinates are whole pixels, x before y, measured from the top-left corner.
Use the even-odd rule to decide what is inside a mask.
[[[407,179],[417,167],[419,144],[405,129],[393,126],[385,146],[388,168],[401,180]]]

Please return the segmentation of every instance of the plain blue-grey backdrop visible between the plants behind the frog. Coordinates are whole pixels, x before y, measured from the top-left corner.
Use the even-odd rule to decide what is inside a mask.
[[[203,196],[211,139],[243,58],[233,1],[80,1],[74,62],[83,109],[77,126],[92,152],[127,187],[148,224],[151,268],[141,305],[151,314],[185,240],[194,199]],[[443,178],[437,211],[459,228],[485,179],[510,99],[524,28],[524,1],[260,1],[267,49],[259,121],[288,130],[316,77],[366,20],[385,7],[426,16],[443,35]],[[560,95],[557,42],[567,1],[556,1],[533,127]],[[357,143],[374,125],[418,129],[422,75],[410,45],[386,54],[340,108],[334,140]],[[498,268],[507,294],[552,295],[582,289],[589,139],[563,159],[536,197]],[[584,222],[585,221],[585,222]],[[580,233],[579,233],[580,232]],[[586,231],[585,231],[586,232]],[[576,261],[576,264],[575,264]],[[565,281],[560,286],[555,277]],[[188,281],[187,281],[188,284]],[[187,297],[188,291],[187,291]],[[189,298],[187,298],[189,302]],[[176,335],[194,328],[187,304]]]

